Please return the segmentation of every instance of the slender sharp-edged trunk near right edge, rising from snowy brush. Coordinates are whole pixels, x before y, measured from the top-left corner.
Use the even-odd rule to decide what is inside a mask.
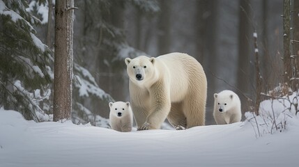
[[[291,54],[290,54],[290,0],[284,0],[284,83],[291,86]]]

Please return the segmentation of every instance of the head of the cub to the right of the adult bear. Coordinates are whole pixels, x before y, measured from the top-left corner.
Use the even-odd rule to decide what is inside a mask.
[[[215,93],[214,99],[215,99],[215,109],[219,111],[220,113],[224,113],[226,111],[229,111],[231,107],[233,106],[233,94],[229,93]]]

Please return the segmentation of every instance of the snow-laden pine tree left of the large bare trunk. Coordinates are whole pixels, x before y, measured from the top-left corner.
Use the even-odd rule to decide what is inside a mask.
[[[0,0],[0,106],[40,121],[50,106],[53,60],[33,29],[40,20],[27,7],[24,0]]]

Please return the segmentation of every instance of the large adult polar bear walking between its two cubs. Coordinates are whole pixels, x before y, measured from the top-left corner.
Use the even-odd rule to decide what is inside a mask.
[[[160,129],[166,118],[176,129],[205,125],[206,74],[195,58],[171,53],[125,64],[138,130]]]

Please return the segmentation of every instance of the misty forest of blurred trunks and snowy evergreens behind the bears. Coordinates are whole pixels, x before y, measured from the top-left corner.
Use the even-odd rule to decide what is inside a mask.
[[[297,90],[299,3],[289,2],[284,15],[283,2],[75,1],[72,122],[105,126],[108,102],[130,101],[124,58],[140,55],[182,52],[203,65],[208,125],[215,124],[213,94],[221,90],[239,95],[243,113]],[[52,120],[54,1],[2,3],[0,105],[29,120]],[[6,15],[6,8],[21,19]]]

